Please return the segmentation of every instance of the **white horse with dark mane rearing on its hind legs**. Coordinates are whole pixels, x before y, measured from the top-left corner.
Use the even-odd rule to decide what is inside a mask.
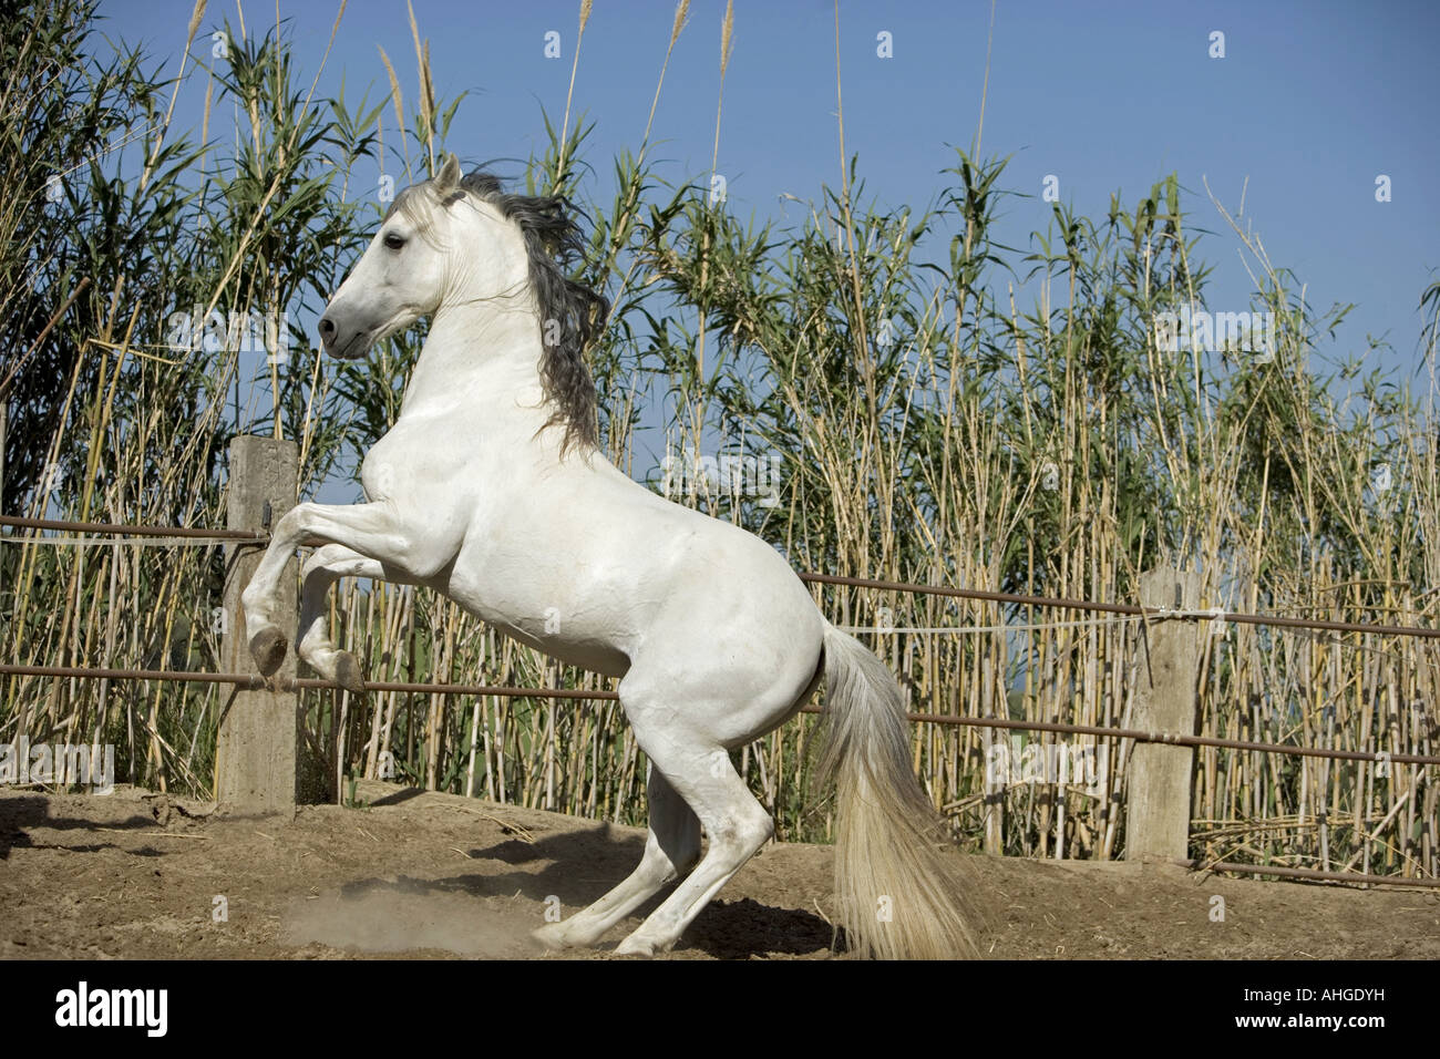
[[[668,951],[772,836],[727,751],[785,723],[824,676],[821,774],[838,785],[847,939],[877,957],[972,955],[890,671],[825,621],[773,548],[670,503],[596,450],[583,352],[606,303],[560,268],[580,246],[566,205],[461,177],[454,156],[396,197],[320,333],[346,359],[423,316],[429,336],[399,419],[361,465],[369,503],[301,503],[276,523],[242,596],[261,670],[275,673],[287,650],[275,625],[285,563],[323,545],[304,563],[297,650],[325,679],[364,686],[325,633],[327,589],[347,575],[425,585],[524,644],[619,677],[649,758],[645,853],[536,937],[593,945],[680,877],[616,949],[645,955]]]

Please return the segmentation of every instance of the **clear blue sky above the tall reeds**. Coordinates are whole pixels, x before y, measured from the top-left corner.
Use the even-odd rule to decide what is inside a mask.
[[[544,148],[541,105],[564,111],[579,3],[415,0],[431,40],[436,92],[461,104],[449,146],[468,161],[524,160]],[[157,61],[177,59],[190,3],[111,0],[107,32],[144,42]],[[337,6],[281,3],[300,68],[320,66]],[[585,157],[588,193],[605,200],[612,156],[636,150],[645,128],[674,6],[670,0],[596,0],[575,85],[575,110],[596,122]],[[667,179],[707,174],[720,89],[723,0],[691,4],[655,115],[654,157]],[[229,17],[212,3],[202,33]],[[253,33],[275,6],[246,6]],[[840,63],[845,150],[858,153],[870,196],[923,207],[969,146],[981,112],[989,3],[841,3]],[[544,56],[560,33],[560,59]],[[1225,56],[1210,58],[1211,33]],[[877,55],[890,33],[893,58]],[[1306,284],[1310,304],[1356,303],[1331,357],[1358,354],[1367,336],[1392,352],[1380,363],[1421,370],[1418,298],[1440,278],[1440,173],[1434,102],[1440,99],[1440,4],[1374,3],[1077,3],[1037,0],[995,7],[982,156],[1014,156],[1002,177],[1009,197],[998,236],[1028,248],[1051,206],[1038,196],[1053,174],[1076,212],[1103,216],[1110,195],[1133,209],[1171,171],[1185,190],[1191,229],[1215,235],[1201,256],[1215,267],[1211,308],[1248,307],[1240,243],[1210,203],[1202,177],[1246,216],[1277,267]],[[207,43],[207,42],[206,42]],[[415,99],[415,52],[403,0],[356,0],[340,23],[320,92],[341,76],[357,99],[384,95],[376,46],[390,55]],[[181,124],[199,127],[202,92],[181,101]],[[387,112],[387,125],[393,124]],[[573,121],[573,118],[572,118]],[[840,183],[835,122],[834,7],[821,0],[734,4],[733,58],[724,85],[717,170],[740,216],[795,222],[821,184]],[[518,173],[520,163],[498,167]],[[1392,200],[1375,200],[1380,174]],[[1247,184],[1248,180],[1248,184]]]

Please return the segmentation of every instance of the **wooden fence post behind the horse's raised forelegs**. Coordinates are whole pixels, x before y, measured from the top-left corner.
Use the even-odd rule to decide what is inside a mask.
[[[238,437],[230,441],[229,529],[274,529],[295,506],[300,452],[292,441]],[[259,674],[249,651],[249,634],[240,609],[240,592],[249,584],[265,549],[226,545],[225,611],[220,666],[228,673]],[[291,650],[276,677],[295,676],[297,563],[292,558],[281,578],[275,618]],[[215,800],[229,813],[295,814],[300,788],[298,692],[251,692],[236,686],[220,713],[215,748]]]

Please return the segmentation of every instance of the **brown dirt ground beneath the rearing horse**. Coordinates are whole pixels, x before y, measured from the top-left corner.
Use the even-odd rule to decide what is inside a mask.
[[[609,958],[639,922],[588,952],[528,937],[625,876],[641,830],[382,782],[359,800],[285,823],[127,787],[0,788],[0,957]],[[1434,892],[966,860],[991,958],[1440,960]],[[829,847],[772,844],[668,958],[834,958],[831,906]]]

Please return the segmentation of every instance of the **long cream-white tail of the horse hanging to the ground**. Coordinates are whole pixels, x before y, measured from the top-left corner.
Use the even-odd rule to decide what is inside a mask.
[[[881,960],[975,957],[959,857],[910,767],[900,687],[832,625],[825,718],[819,772],[835,782],[835,896],[851,948]]]

